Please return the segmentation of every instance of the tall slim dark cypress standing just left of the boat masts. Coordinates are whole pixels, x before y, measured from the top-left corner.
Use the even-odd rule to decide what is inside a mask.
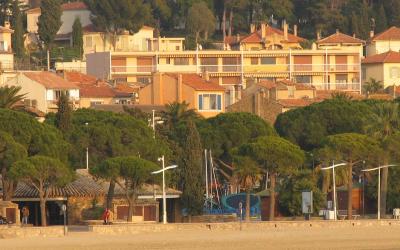
[[[181,187],[183,207],[189,215],[200,214],[203,210],[203,180],[200,135],[194,122],[188,120],[182,155]]]

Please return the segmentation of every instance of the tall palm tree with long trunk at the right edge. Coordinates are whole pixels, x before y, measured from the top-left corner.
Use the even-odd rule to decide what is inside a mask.
[[[387,153],[389,152],[388,147],[390,147],[390,144],[386,143],[386,141],[400,129],[399,111],[398,103],[380,103],[376,106],[374,114],[370,118],[371,123],[367,126],[367,133],[378,139],[384,149],[384,165],[387,165],[390,159],[390,154]],[[381,212],[383,216],[386,213],[388,175],[388,168],[383,168],[381,182]]]

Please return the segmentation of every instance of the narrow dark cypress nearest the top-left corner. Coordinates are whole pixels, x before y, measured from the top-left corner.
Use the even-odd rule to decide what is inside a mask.
[[[23,58],[24,24],[18,0],[14,0],[14,2],[12,3],[12,10],[13,10],[13,16],[11,19],[11,26],[14,29],[14,33],[12,34],[12,48],[17,58]]]

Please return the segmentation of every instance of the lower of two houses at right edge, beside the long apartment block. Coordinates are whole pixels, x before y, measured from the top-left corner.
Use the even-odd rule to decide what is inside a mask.
[[[400,85],[400,52],[389,50],[362,60],[362,81],[381,81],[384,88]]]

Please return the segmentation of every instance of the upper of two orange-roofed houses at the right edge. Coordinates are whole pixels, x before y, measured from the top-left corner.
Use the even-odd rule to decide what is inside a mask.
[[[370,39],[366,46],[366,55],[373,56],[390,50],[400,51],[400,28],[392,26],[377,35],[371,31]]]

